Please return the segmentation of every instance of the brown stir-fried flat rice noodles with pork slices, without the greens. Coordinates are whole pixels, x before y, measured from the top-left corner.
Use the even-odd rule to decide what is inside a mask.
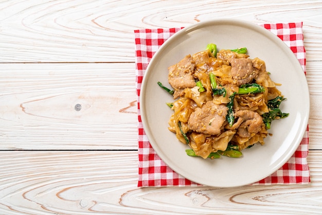
[[[187,55],[168,69],[176,99],[169,130],[181,142],[188,143],[196,155],[207,158],[211,152],[225,151],[228,143],[238,146],[239,150],[264,144],[269,132],[262,115],[269,112],[267,101],[281,92],[276,88],[279,84],[271,80],[263,60],[230,50],[219,51],[216,58],[205,50]],[[216,77],[216,88],[225,89],[224,95],[213,95],[209,73]],[[196,81],[202,83],[203,92],[199,91]],[[239,87],[247,83],[257,83],[264,91],[239,94]],[[227,104],[234,93],[235,121],[229,125]]]

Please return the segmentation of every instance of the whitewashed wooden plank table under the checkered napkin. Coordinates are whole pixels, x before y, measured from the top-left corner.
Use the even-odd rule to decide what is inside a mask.
[[[303,22],[311,184],[137,188],[133,30],[218,17]],[[321,20],[315,0],[0,1],[0,214],[321,214]]]

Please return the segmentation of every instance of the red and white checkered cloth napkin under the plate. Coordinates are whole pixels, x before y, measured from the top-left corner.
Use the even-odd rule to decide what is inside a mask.
[[[306,52],[303,45],[302,23],[264,24],[262,27],[270,30],[287,44],[296,55],[302,68],[305,70]],[[139,177],[138,187],[147,186],[198,186],[174,172],[155,153],[142,127],[140,116],[140,88],[142,78],[148,63],[157,49],[175,32],[182,28],[170,29],[141,29],[135,30],[135,63],[136,63],[136,86],[138,101],[138,158]],[[310,172],[307,164],[309,127],[303,136],[301,144],[279,170],[254,185],[271,184],[307,184],[310,182]]]

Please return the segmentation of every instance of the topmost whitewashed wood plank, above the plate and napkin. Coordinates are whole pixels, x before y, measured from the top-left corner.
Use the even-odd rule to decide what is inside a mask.
[[[317,61],[322,60],[321,9],[318,1],[279,0],[2,1],[0,62],[134,62],[134,29],[225,17],[258,24],[303,22],[308,61]]]

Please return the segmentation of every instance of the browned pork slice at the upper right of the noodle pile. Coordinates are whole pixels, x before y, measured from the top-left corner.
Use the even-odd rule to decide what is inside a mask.
[[[250,58],[234,58],[231,60],[231,76],[237,85],[251,82],[258,75],[258,69],[253,67]]]

